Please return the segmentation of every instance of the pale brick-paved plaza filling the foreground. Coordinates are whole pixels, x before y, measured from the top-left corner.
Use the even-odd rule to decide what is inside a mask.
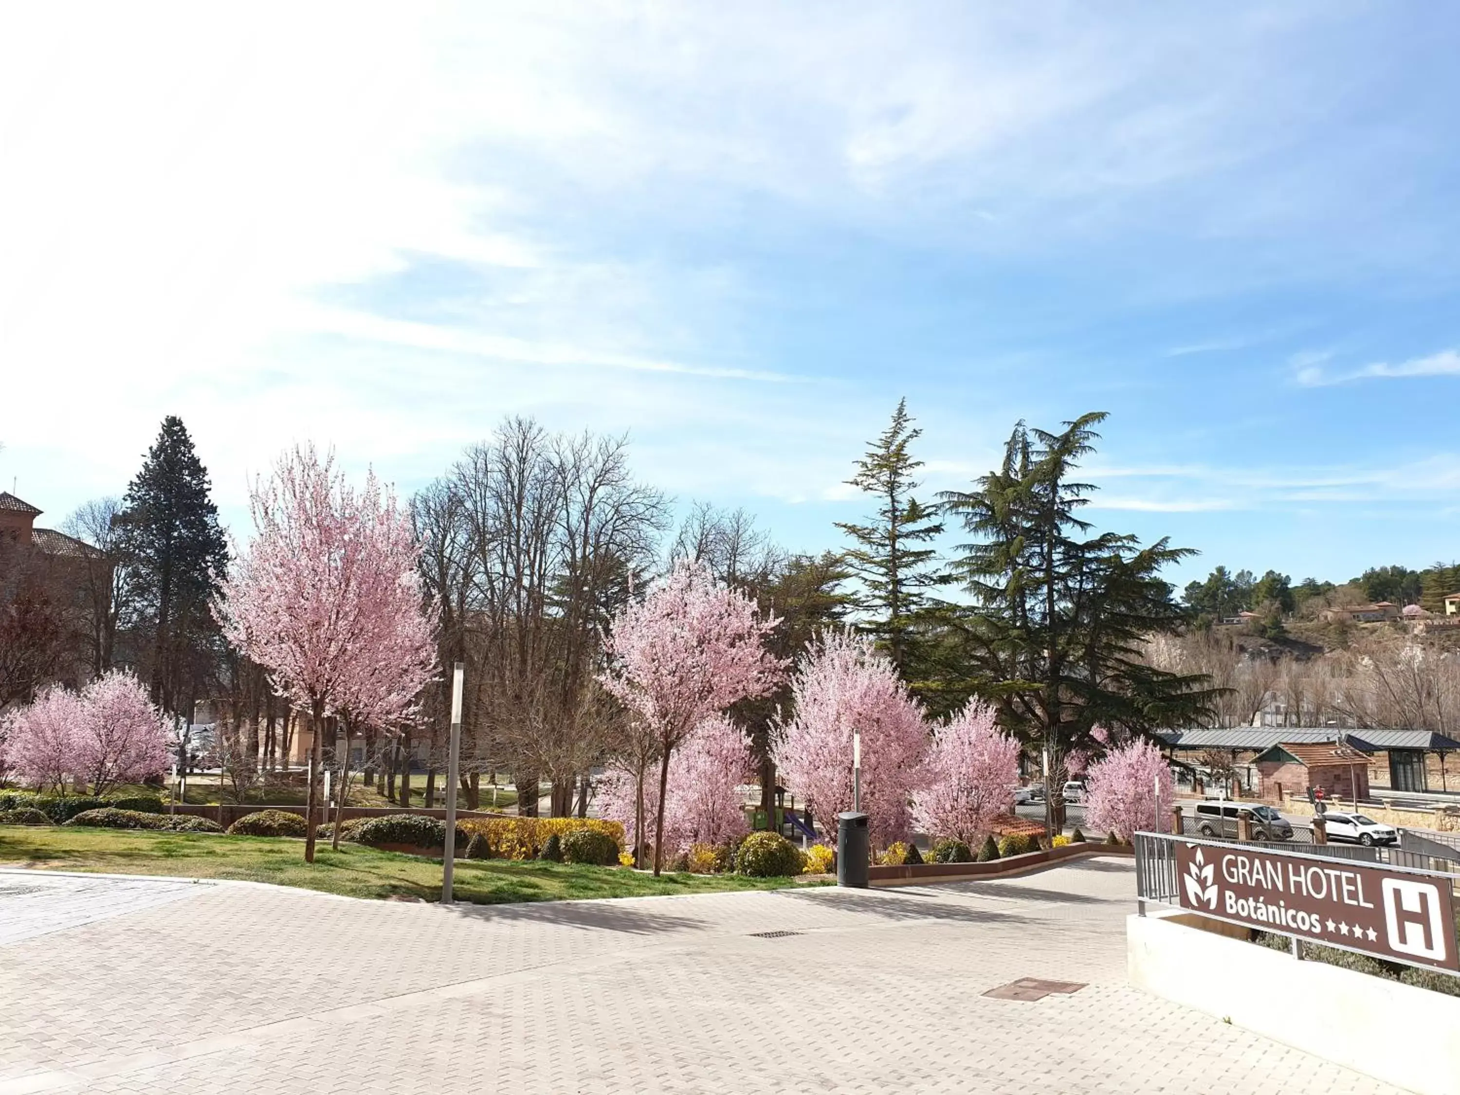
[[[1133,892],[1115,857],[489,908],[0,873],[0,1092],[1394,1091],[1129,988]],[[1025,977],[1088,987],[983,996]]]

